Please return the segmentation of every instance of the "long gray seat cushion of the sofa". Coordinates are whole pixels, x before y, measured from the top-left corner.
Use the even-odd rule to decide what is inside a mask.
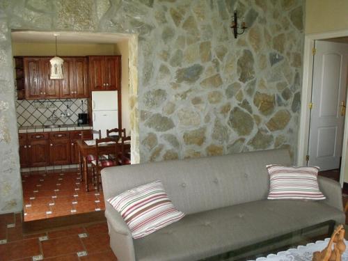
[[[139,261],[199,260],[330,219],[344,223],[345,214],[318,201],[259,200],[187,215],[134,248]]]

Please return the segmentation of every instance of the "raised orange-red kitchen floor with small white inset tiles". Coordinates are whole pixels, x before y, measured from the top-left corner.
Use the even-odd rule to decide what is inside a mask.
[[[84,189],[77,171],[22,173],[24,221],[105,209],[102,191]]]

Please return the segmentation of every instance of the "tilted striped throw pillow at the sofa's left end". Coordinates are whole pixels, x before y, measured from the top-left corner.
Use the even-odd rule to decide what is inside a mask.
[[[171,203],[160,180],[127,190],[109,198],[108,202],[125,219],[134,239],[145,237],[184,216]]]

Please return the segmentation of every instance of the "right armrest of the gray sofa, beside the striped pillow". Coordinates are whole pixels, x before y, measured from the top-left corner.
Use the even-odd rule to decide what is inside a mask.
[[[343,212],[342,189],[340,183],[327,177],[318,177],[319,189],[324,193],[324,203]]]

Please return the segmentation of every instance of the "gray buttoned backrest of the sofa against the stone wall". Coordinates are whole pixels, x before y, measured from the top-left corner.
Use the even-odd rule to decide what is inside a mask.
[[[266,165],[290,165],[287,150],[116,166],[102,170],[105,200],[161,180],[173,205],[185,214],[266,199]]]

